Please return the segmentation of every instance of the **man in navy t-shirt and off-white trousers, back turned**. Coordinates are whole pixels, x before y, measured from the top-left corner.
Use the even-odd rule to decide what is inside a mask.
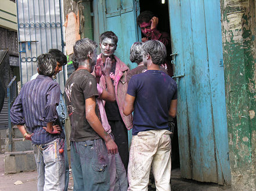
[[[128,190],[147,190],[151,166],[157,190],[171,190],[168,115],[176,116],[177,85],[160,70],[167,54],[164,44],[151,40],[142,49],[147,71],[132,76],[124,104],[125,115],[134,111]]]

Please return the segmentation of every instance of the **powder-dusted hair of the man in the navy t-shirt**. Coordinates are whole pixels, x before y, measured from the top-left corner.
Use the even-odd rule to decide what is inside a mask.
[[[166,48],[164,44],[157,40],[150,40],[142,45],[143,55],[150,54],[153,64],[164,64],[166,58]]]

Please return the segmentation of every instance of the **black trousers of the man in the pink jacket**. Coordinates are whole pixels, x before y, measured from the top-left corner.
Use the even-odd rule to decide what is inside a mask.
[[[128,161],[129,161],[129,150],[128,150],[128,131],[122,120],[109,120],[111,126],[111,132],[114,135],[114,141],[117,144],[118,152],[121,157],[122,163],[124,164],[127,172]]]

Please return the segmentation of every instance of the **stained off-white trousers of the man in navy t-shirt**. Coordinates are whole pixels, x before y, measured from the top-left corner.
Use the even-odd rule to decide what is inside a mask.
[[[171,190],[171,132],[141,131],[132,136],[128,164],[128,190],[147,190],[152,166],[156,190]]]

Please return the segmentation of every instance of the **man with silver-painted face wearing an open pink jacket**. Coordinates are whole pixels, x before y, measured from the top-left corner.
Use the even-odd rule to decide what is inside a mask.
[[[103,32],[103,34],[99,36],[99,40],[101,53],[98,56],[98,59],[102,58],[103,63],[105,63],[106,58],[110,57],[110,78],[112,79],[116,93],[116,101],[106,101],[104,108],[106,111],[107,120],[111,126],[111,131],[114,135],[114,141],[118,146],[122,163],[127,170],[129,160],[127,130],[132,128],[132,115],[125,116],[122,111],[122,105],[124,105],[125,94],[128,87],[126,76],[129,68],[117,56],[114,55],[114,52],[117,49],[118,41],[118,38],[114,32]],[[103,89],[107,88],[104,76],[100,78],[99,84],[103,87]]]

